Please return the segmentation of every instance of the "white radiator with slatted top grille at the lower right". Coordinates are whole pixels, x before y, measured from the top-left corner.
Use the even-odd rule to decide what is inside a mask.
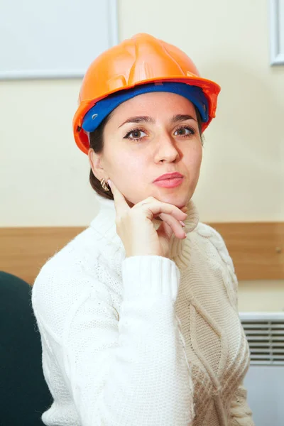
[[[256,426],[284,426],[284,312],[239,312],[251,352],[244,386]]]

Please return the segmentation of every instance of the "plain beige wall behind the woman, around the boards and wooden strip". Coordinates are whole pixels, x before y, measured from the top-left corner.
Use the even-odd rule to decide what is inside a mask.
[[[178,45],[222,86],[204,133],[201,219],[283,221],[284,67],[269,66],[267,1],[119,0],[120,40],[138,32]],[[0,83],[0,226],[96,215],[87,156],[72,138],[79,89],[80,80]],[[284,310],[283,282],[240,283],[239,293],[240,310]]]

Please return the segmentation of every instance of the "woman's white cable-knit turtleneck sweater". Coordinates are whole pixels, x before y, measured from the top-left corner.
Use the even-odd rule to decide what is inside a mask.
[[[114,202],[50,258],[32,290],[48,426],[254,426],[234,266],[198,222],[170,258],[125,258]],[[153,221],[155,229],[160,222]]]

